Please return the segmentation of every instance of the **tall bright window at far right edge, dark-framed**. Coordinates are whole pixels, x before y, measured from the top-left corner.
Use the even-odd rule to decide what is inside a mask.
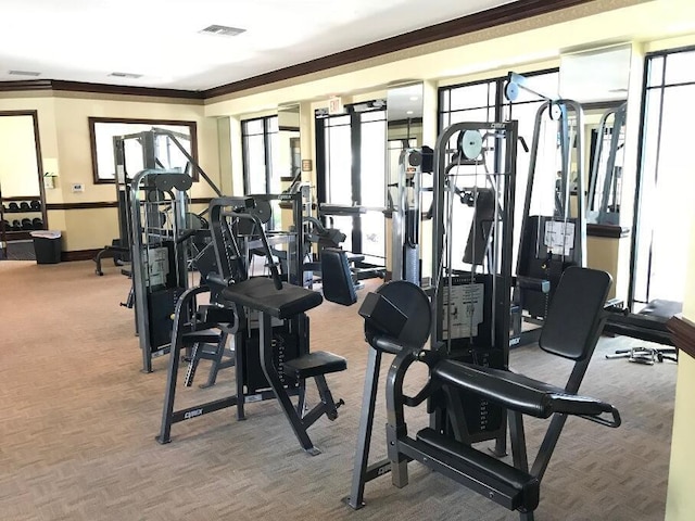
[[[645,64],[642,154],[631,302],[683,302],[692,194],[687,126],[695,117],[695,49],[655,53]]]

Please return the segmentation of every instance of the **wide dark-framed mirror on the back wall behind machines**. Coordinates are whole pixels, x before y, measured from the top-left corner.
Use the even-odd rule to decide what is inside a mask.
[[[130,136],[152,129],[168,130],[182,144],[186,151],[198,162],[198,137],[195,122],[179,122],[165,119],[124,119],[90,117],[89,139],[91,142],[91,162],[94,183],[114,182],[114,136]],[[137,140],[127,140],[126,165],[128,175],[144,169],[142,148]],[[166,136],[160,136],[156,144],[156,158],[162,168],[180,169],[185,171],[188,160]],[[198,180],[198,170],[191,173],[193,180]]]

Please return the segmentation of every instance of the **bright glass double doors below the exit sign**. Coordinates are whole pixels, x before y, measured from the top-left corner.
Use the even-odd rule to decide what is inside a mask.
[[[344,115],[316,115],[319,202],[354,208],[329,215],[334,228],[348,236],[343,247],[365,255],[367,264],[386,258],[387,118],[381,104],[350,107]]]

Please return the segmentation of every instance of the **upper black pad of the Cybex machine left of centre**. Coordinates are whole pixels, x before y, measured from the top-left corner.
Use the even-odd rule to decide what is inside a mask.
[[[324,302],[319,293],[299,285],[283,284],[278,290],[273,280],[265,277],[253,277],[231,284],[222,290],[222,296],[279,319],[294,317]]]

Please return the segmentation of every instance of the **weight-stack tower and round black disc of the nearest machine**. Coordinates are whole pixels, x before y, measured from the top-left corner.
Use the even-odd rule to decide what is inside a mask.
[[[450,149],[452,141],[454,149]],[[395,280],[367,295],[361,307],[370,348],[346,498],[354,509],[364,505],[366,483],[393,469],[388,459],[369,463],[384,353],[397,358],[404,352],[419,351],[430,338],[432,351],[447,358],[507,367],[516,144],[516,122],[457,123],[440,135],[433,167],[433,283],[427,289],[431,304],[419,280]],[[488,168],[484,164],[491,157],[497,164]],[[462,230],[468,230],[464,243],[457,241],[459,236],[466,238]],[[495,449],[504,454],[502,408],[455,391],[448,396],[458,406],[455,411],[440,392],[426,392],[412,403],[429,398],[430,421],[438,429],[469,443],[494,440]]]

